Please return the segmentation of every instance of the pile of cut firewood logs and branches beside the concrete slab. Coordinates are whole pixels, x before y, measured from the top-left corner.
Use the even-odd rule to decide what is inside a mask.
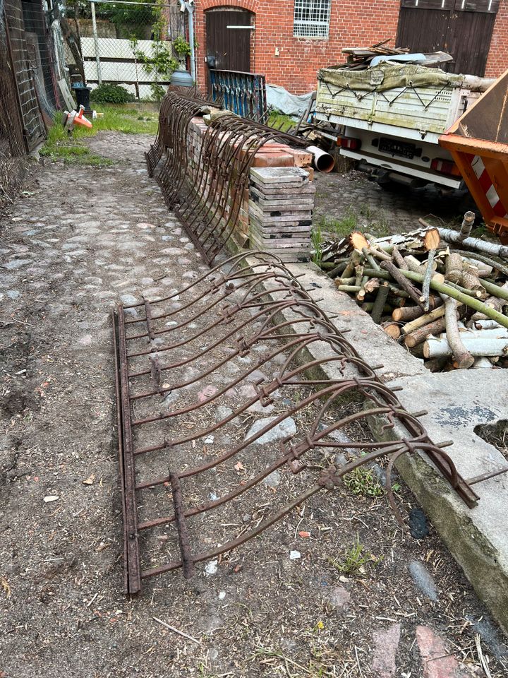
[[[508,247],[423,228],[352,232],[322,248],[321,268],[431,371],[508,367]]]

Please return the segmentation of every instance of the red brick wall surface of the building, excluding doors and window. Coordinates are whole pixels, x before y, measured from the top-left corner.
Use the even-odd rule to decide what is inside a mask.
[[[255,13],[251,37],[251,71],[265,73],[267,83],[292,93],[315,90],[318,69],[344,61],[343,47],[367,46],[397,36],[399,0],[332,0],[327,40],[293,37],[293,0],[195,0],[198,83],[205,88],[205,11],[241,7]],[[394,42],[391,43],[394,45]],[[275,56],[276,48],[279,56]],[[501,0],[485,76],[508,69],[508,0]]]

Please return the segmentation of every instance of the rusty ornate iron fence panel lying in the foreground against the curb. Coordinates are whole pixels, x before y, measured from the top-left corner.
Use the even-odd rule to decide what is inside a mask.
[[[114,314],[126,593],[192,576],[318,492],[340,504],[342,479],[374,461],[400,521],[390,476],[402,455],[427,456],[466,505],[478,499],[425,412],[404,410],[279,258],[254,254]],[[274,472],[289,501],[266,487]]]

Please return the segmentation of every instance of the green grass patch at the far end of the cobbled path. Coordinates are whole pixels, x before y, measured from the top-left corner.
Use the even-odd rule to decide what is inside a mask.
[[[97,105],[95,109],[103,115],[92,121],[92,129],[75,127],[71,135],[63,129],[62,114],[57,113],[40,155],[52,160],[61,160],[67,165],[105,167],[114,165],[114,161],[92,153],[83,143],[85,137],[95,136],[99,131],[152,135],[157,133],[159,114],[156,111],[140,112],[132,108],[107,104]]]

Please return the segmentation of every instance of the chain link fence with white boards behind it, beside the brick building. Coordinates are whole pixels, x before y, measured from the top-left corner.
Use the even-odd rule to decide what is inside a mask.
[[[78,49],[67,40],[68,66],[91,88],[121,85],[132,98],[160,100],[171,73],[186,68],[190,53],[186,15],[179,8],[178,1],[69,0],[66,18]]]

